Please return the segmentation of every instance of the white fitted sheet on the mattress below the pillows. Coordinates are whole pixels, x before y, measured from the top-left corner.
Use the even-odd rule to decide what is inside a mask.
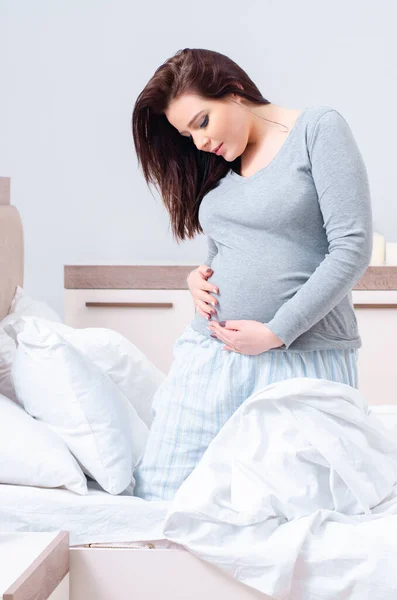
[[[164,540],[169,502],[114,496],[94,481],[88,489],[80,496],[63,488],[1,484],[0,531],[69,531],[70,546]]]

